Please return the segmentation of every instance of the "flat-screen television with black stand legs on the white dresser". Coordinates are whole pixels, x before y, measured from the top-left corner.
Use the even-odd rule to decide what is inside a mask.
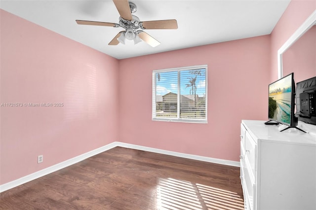
[[[289,128],[297,128],[298,118],[295,117],[295,82],[294,73],[271,83],[269,85],[269,121],[266,125],[284,124],[288,127],[281,130],[284,131]],[[275,121],[275,122],[272,122]],[[303,131],[305,132],[305,131]]]

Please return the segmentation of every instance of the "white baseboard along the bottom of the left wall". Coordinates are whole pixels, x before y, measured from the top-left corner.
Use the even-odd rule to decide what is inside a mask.
[[[30,174],[30,175],[26,175],[26,176],[23,176],[21,178],[18,178],[18,179],[15,179],[13,181],[10,181],[10,182],[7,182],[5,184],[1,184],[0,185],[0,193],[3,192],[3,191],[6,191],[6,190],[9,190],[13,187],[17,187],[21,184],[25,184],[29,181],[32,181],[34,179],[37,179],[37,178],[40,178],[44,175],[48,175],[50,173],[53,173],[53,172],[56,172],[60,169],[63,169],[63,168],[66,168],[68,166],[71,166],[73,164],[76,164],[76,163],[79,163],[80,161],[83,161],[84,159],[87,159],[89,157],[92,157],[94,155],[97,155],[101,152],[104,152],[106,150],[109,150],[109,149],[112,149],[114,147],[117,146],[117,142],[112,142],[112,143],[109,143],[105,146],[102,146],[102,147],[99,147],[97,149],[94,149],[92,151],[89,151],[89,152],[86,152],[84,154],[81,154],[77,157],[74,157],[74,158],[71,158],[71,159],[68,159],[66,161],[63,161],[61,163],[58,163],[56,165],[53,165],[53,166],[50,166],[48,168],[45,168],[43,170],[40,170],[38,172],[35,172],[33,174]]]

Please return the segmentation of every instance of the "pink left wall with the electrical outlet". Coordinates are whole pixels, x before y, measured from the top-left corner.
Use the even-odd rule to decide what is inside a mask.
[[[118,60],[0,10],[0,184],[117,140]],[[44,162],[37,163],[37,156]]]

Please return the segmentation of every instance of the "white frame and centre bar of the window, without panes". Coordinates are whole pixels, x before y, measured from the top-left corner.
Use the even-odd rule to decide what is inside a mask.
[[[180,74],[178,73],[178,92],[177,92],[177,118],[156,117],[156,73],[168,71],[197,70],[205,69],[205,119],[180,118]],[[168,122],[189,122],[189,123],[207,123],[207,65],[172,68],[164,70],[153,70],[153,92],[152,92],[152,120]]]

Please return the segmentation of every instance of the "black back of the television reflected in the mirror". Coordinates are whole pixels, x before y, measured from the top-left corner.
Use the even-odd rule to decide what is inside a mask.
[[[296,84],[295,101],[298,120],[316,125],[316,77]]]

